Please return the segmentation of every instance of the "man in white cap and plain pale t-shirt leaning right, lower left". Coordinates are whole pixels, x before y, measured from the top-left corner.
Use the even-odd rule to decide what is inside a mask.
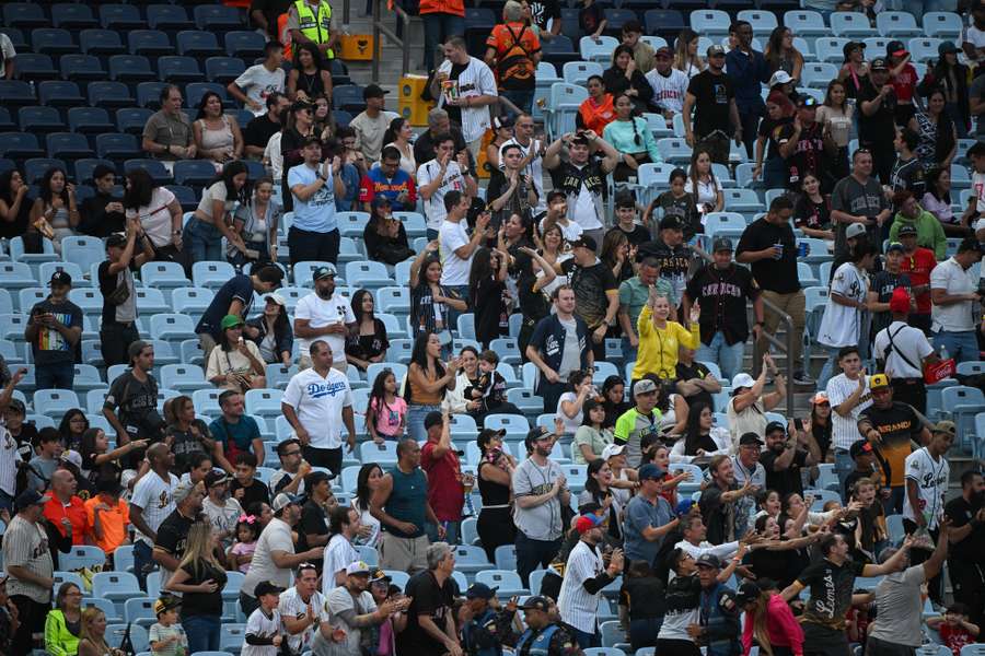
[[[291,581],[291,570],[311,559],[322,557],[321,547],[294,553],[291,528],[301,518],[301,506],[292,496],[278,494],[274,497],[270,508],[274,511],[274,518],[260,532],[250,571],[240,586],[240,606],[247,617],[259,606],[255,596],[257,584],[270,582],[287,589]]]

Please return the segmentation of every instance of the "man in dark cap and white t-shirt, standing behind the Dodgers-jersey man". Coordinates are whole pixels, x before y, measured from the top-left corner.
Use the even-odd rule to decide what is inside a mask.
[[[345,373],[348,370],[346,338],[356,329],[356,315],[349,300],[335,293],[335,269],[318,267],[311,277],[314,291],[298,301],[294,308],[294,337],[300,339],[301,350],[298,366],[302,370],[311,366],[309,349],[314,340],[321,339],[332,350],[332,366]]]

